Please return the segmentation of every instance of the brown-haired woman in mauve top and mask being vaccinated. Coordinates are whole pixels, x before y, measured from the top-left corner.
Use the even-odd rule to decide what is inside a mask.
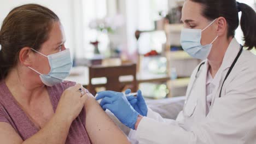
[[[0,31],[1,143],[129,143],[72,68],[56,14],[37,4],[14,8]]]

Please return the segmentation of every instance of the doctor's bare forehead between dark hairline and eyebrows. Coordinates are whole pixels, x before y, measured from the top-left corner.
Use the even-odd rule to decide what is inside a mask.
[[[202,5],[200,3],[192,2],[187,0],[184,2],[182,8],[182,22],[195,21],[198,22],[203,19],[202,16]]]

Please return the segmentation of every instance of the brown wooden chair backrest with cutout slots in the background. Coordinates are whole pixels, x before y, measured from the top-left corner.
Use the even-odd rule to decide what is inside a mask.
[[[133,80],[130,82],[120,82],[120,76],[132,75]],[[107,83],[103,85],[93,85],[92,79],[106,77]],[[130,84],[129,87],[126,87]],[[108,91],[121,92],[124,88],[130,88],[132,92],[137,91],[137,80],[136,80],[136,64],[122,64],[119,66],[103,66],[103,65],[92,65],[89,67],[89,85],[88,90],[92,94],[96,94],[97,87],[105,87]]]

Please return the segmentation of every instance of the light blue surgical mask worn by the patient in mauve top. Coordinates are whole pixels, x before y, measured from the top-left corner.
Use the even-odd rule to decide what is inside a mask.
[[[67,76],[69,76],[72,68],[72,59],[69,49],[49,56],[45,56],[43,53],[40,53],[34,49],[32,50],[48,58],[51,70],[47,75],[41,74],[37,70],[28,67],[40,75],[40,79],[46,86],[51,87],[57,83],[61,83],[64,79],[66,79]]]

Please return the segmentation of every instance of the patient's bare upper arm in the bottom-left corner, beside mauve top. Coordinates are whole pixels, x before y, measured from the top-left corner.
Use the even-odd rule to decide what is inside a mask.
[[[9,123],[0,122],[0,140],[5,144],[19,144],[23,140]]]

